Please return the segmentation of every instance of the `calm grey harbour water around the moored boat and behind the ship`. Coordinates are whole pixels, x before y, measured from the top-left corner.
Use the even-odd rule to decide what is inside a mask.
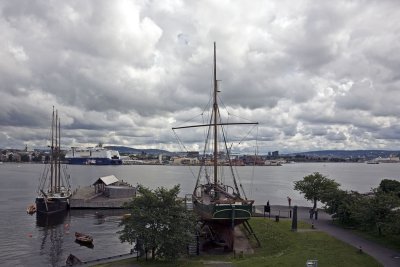
[[[181,185],[182,196],[191,193],[197,168],[183,166],[68,166],[73,188],[92,184],[97,178],[115,175],[132,185],[150,188]],[[122,244],[116,232],[121,210],[101,211],[99,218],[93,210],[72,210],[61,218],[37,218],[26,214],[33,203],[43,170],[40,164],[0,165],[0,266],[62,266],[70,253],[88,261],[128,253],[131,246]],[[320,172],[335,179],[345,190],[370,191],[384,178],[400,181],[400,164],[368,165],[363,163],[304,163],[268,167],[238,167],[247,197],[256,204],[311,205],[293,190],[293,181]],[[94,236],[94,247],[75,243],[74,232]]]

